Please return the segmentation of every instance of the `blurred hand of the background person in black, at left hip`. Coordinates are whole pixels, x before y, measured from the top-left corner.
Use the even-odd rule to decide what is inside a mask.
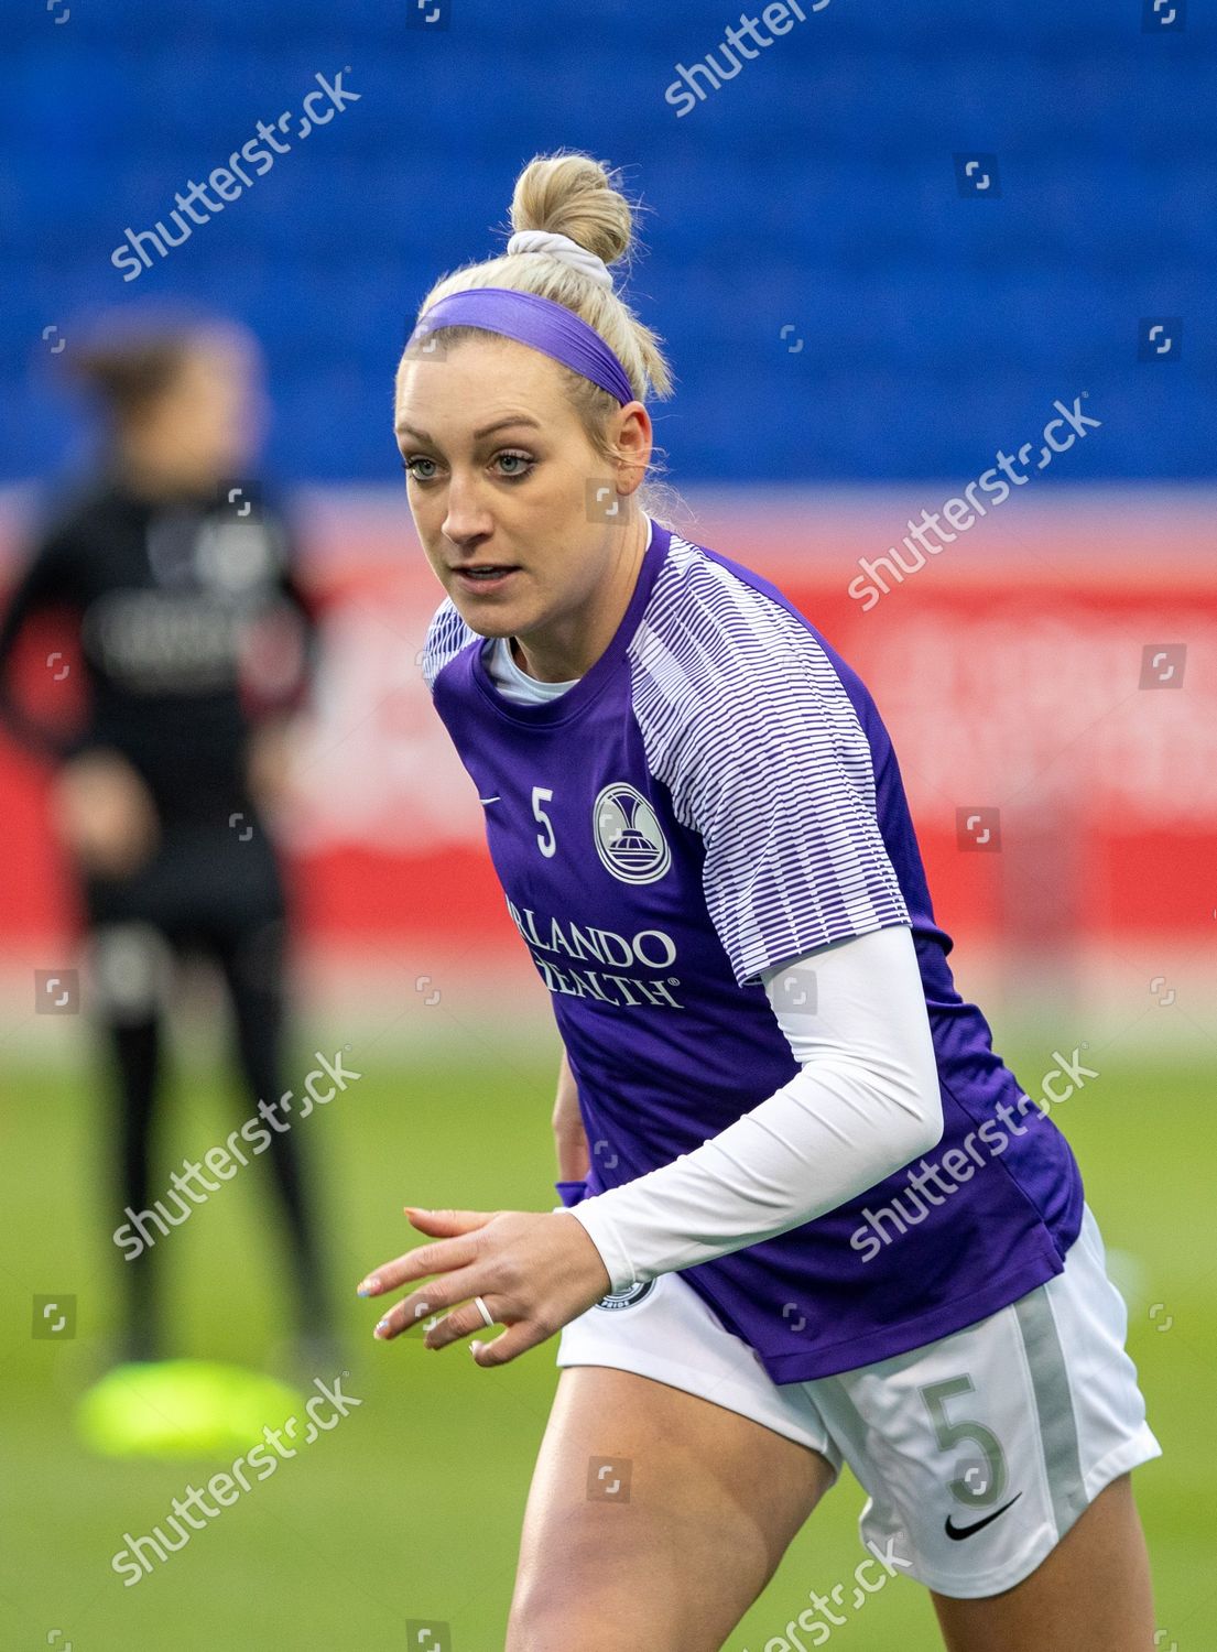
[[[51,806],[61,843],[96,877],[129,877],[160,839],[152,793],[119,752],[83,752],[64,763]]]

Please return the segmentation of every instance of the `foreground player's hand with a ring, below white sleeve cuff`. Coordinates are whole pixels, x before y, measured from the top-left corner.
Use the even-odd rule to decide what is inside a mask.
[[[406,1216],[419,1232],[441,1237],[373,1269],[358,1294],[380,1297],[410,1280],[436,1277],[388,1310],[376,1325],[381,1341],[419,1322],[428,1325],[428,1348],[484,1332],[474,1302],[481,1297],[507,1330],[494,1341],[471,1343],[471,1351],[477,1365],[507,1365],[613,1290],[599,1251],[565,1211],[421,1211],[408,1204]]]

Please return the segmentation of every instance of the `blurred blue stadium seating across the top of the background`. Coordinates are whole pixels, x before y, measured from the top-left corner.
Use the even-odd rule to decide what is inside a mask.
[[[1093,474],[1207,476],[1217,21],[1191,10],[1153,38],[1136,0],[834,0],[679,116],[677,66],[723,38],[700,0],[454,0],[429,31],[332,0],[197,0],[155,26],[142,0],[69,28],[26,8],[0,107],[0,464],[69,451],[28,372],[41,329],[154,294],[264,339],[287,476],[383,479],[410,317],[502,248],[519,167],[568,145],[626,167],[649,208],[627,291],[679,375],[657,413],[689,479],[968,476],[1080,388],[1111,408]],[[340,69],[360,94],[340,119],[294,129],[122,281],[127,225]],[[961,193],[956,155],[996,155],[1001,195]],[[1184,317],[1171,368],[1136,358],[1154,316]]]

